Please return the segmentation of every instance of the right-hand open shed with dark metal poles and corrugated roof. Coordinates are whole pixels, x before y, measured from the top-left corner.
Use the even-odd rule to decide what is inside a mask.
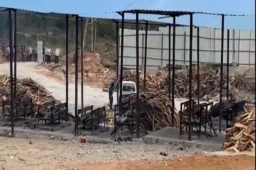
[[[176,27],[176,17],[183,16],[183,15],[189,15],[190,16],[190,37],[189,37],[189,134],[188,134],[188,140],[191,140],[191,118],[192,118],[192,46],[193,46],[193,14],[206,14],[206,15],[219,15],[222,16],[222,24],[221,24],[221,80],[220,80],[220,104],[219,104],[219,132],[221,132],[221,123],[222,123],[222,84],[223,84],[223,47],[224,47],[224,16],[245,16],[245,15],[226,15],[226,14],[213,14],[213,13],[204,13],[204,12],[187,12],[187,11],[158,11],[158,10],[126,10],[126,11],[120,11],[117,12],[122,17],[122,30],[121,30],[121,69],[120,69],[120,84],[122,84],[122,73],[123,73],[123,39],[124,39],[124,15],[125,13],[135,14],[136,15],[136,84],[137,84],[137,97],[136,97],[136,112],[139,113],[139,14],[153,14],[153,15],[163,15],[164,17],[160,18],[173,18],[173,62],[172,62],[172,123],[174,121],[174,108],[175,108],[175,102],[174,102],[174,88],[175,88],[175,27]],[[160,19],[159,18],[159,19]],[[169,68],[168,68],[168,75],[169,75],[169,83],[168,83],[168,97],[170,97],[170,27],[169,27]],[[146,36],[147,37],[147,36]],[[145,43],[147,44],[147,42]],[[228,41],[227,46],[229,47],[229,30],[228,30]],[[145,47],[146,48],[146,47]],[[199,27],[197,27],[197,101],[199,104],[200,101],[200,74],[199,74],[199,53],[200,48],[200,42],[199,42]],[[146,52],[146,51],[145,51]],[[229,48],[227,49],[228,57],[229,57]],[[146,56],[145,56],[146,60]],[[229,59],[228,59],[229,62]],[[227,62],[227,79],[229,77],[229,63]],[[144,63],[146,65],[146,62]],[[256,60],[255,60],[256,64]],[[144,66],[146,68],[146,66]],[[144,73],[145,73],[144,69]],[[256,74],[256,65],[255,65],[255,74]],[[145,75],[145,74],[144,74]],[[145,78],[144,78],[145,81]],[[145,82],[143,83],[145,87]],[[120,93],[121,92],[120,87]],[[227,99],[228,99],[228,92],[229,92],[229,86],[227,86]],[[255,92],[256,95],[256,92]],[[120,94],[120,98],[122,97],[122,94]],[[119,102],[122,102],[122,100],[119,100]],[[139,115],[137,114],[137,137],[140,137],[139,132]]]

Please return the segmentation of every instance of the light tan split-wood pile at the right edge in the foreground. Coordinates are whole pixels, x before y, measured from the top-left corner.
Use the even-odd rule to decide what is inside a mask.
[[[227,141],[223,148],[242,152],[255,148],[255,108],[245,108],[246,113],[237,117],[233,127],[227,128]]]

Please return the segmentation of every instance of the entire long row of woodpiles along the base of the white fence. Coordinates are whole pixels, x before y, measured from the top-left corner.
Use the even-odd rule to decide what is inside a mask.
[[[165,79],[161,78],[160,74],[151,74],[146,73],[146,88],[145,91],[154,91],[154,90],[168,90],[168,77]],[[194,69],[192,71],[192,97],[197,97],[197,71]],[[227,87],[227,75],[223,74],[223,96],[226,96],[226,87]],[[140,90],[143,89],[143,72],[139,73],[139,87]],[[130,70],[123,72],[123,80],[130,80],[136,82],[136,72]],[[171,86],[172,86],[172,77],[171,77]],[[171,87],[172,88],[172,87]],[[251,92],[251,87],[249,79],[246,78],[246,75],[234,75],[229,77],[229,96],[232,100],[237,101],[240,98],[240,95],[237,95],[239,91]],[[202,100],[213,100],[216,98],[219,100],[219,91],[220,91],[220,69],[205,69],[200,71],[200,99]],[[172,92],[172,90],[171,90]],[[187,70],[175,71],[175,96],[176,97],[189,97],[189,72]],[[247,103],[255,103],[254,96],[246,97]]]

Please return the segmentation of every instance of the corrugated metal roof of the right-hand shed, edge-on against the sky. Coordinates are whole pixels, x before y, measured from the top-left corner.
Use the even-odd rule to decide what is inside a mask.
[[[119,11],[125,13],[140,13],[140,14],[154,14],[154,15],[167,15],[167,16],[181,16],[189,14],[207,14],[207,15],[225,15],[225,16],[249,16],[246,14],[236,15],[236,14],[220,14],[220,13],[209,13],[209,12],[193,12],[193,11],[162,11],[162,10],[144,10],[144,9],[133,9]]]

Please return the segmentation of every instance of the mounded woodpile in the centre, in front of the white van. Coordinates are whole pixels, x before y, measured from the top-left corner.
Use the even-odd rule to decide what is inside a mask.
[[[136,106],[136,94],[130,95],[131,106]],[[172,126],[172,101],[166,94],[157,91],[141,92],[140,103],[146,103],[147,128],[144,130],[158,130],[167,126]],[[153,127],[154,119],[154,129]],[[174,113],[174,127],[179,127],[178,114]]]

